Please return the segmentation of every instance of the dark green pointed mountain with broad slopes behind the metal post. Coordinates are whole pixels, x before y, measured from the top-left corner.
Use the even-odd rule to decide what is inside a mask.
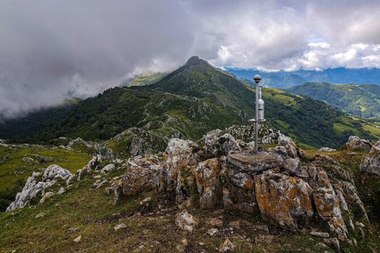
[[[263,96],[267,124],[299,143],[340,148],[350,134],[378,138],[374,129],[363,128],[372,125],[321,101],[278,89],[263,89]],[[254,98],[251,86],[192,57],[155,84],[108,89],[80,101],[59,119],[46,119],[48,124],[37,134],[20,131],[17,140],[48,142],[60,136],[106,140],[131,127],[196,140],[210,129],[248,124],[254,115]],[[0,134],[0,138],[14,137],[6,131]]]

